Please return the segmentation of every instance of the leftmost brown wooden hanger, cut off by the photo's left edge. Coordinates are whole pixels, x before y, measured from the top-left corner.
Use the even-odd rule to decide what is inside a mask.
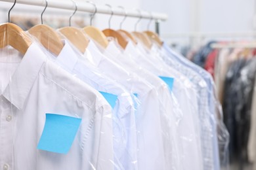
[[[0,25],[0,40],[0,48],[10,45],[23,55],[32,44],[30,37],[18,25],[11,23]]]

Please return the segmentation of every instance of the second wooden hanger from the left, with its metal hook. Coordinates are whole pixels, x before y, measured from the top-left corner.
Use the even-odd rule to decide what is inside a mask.
[[[47,8],[47,0],[45,0],[45,9]],[[51,27],[43,24],[43,13],[41,13],[41,25],[35,25],[28,30],[28,32],[37,38],[41,44],[50,52],[53,52],[56,56],[60,54],[64,44],[61,41],[60,35]]]

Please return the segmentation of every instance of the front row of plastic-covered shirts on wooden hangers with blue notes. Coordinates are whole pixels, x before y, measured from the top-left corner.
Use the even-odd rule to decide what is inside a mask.
[[[42,19],[28,31],[1,24],[0,41],[3,169],[219,170],[226,160],[211,75],[156,33]]]

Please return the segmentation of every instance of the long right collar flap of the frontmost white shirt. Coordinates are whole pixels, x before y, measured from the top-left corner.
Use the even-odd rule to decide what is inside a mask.
[[[45,61],[47,61],[47,56],[37,44],[32,43],[12,75],[7,88],[3,91],[3,96],[18,109],[23,108]]]

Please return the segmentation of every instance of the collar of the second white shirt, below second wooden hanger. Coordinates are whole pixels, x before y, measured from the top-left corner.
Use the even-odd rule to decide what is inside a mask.
[[[67,67],[70,71],[72,71],[77,63],[77,54],[73,50],[72,46],[70,46],[68,41],[65,41],[65,44],[56,57],[56,61]]]

